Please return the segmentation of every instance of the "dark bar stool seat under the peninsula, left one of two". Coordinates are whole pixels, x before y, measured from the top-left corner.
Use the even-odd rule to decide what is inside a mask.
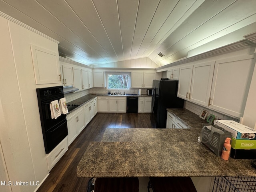
[[[138,192],[138,178],[97,178],[94,192]]]

